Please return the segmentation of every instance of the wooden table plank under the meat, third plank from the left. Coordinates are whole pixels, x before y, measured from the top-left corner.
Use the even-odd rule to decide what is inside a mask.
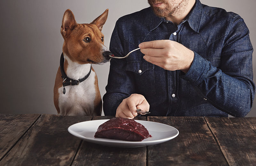
[[[94,117],[94,119],[111,119],[113,117]],[[135,117],[135,120],[146,117]],[[96,131],[95,131],[96,132]],[[146,147],[114,148],[83,141],[72,166],[121,165],[146,166]]]

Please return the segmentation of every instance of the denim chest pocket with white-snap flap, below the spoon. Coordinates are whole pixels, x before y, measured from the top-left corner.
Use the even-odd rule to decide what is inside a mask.
[[[146,98],[156,94],[154,64],[147,61],[130,61],[126,64],[126,72],[134,77],[136,93]]]

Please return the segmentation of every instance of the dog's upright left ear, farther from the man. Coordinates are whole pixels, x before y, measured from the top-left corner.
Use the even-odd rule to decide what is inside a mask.
[[[75,28],[76,25],[77,25],[77,23],[76,23],[75,16],[72,13],[72,11],[69,9],[66,10],[63,15],[63,18],[62,18],[62,25],[61,25],[60,32],[64,36],[67,36]]]

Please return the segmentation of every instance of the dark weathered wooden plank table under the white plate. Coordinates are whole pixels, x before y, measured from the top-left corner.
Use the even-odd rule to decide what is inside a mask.
[[[167,142],[113,148],[82,141],[68,126],[109,116],[0,114],[0,165],[256,165],[256,117],[136,117],[176,127]]]

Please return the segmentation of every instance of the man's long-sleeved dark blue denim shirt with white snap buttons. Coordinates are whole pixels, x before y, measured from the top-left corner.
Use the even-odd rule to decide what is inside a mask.
[[[116,115],[118,105],[132,93],[147,99],[148,116],[244,117],[251,110],[253,48],[239,15],[196,0],[188,17],[175,26],[149,7],[117,20],[110,51],[124,56],[141,42],[163,39],[194,51],[188,73],[164,70],[145,61],[140,51],[112,58],[103,97],[105,115]]]

